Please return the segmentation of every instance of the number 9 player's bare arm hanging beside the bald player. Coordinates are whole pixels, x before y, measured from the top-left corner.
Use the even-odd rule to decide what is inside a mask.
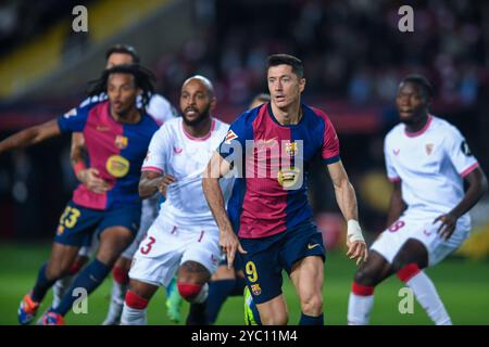
[[[230,269],[235,260],[236,252],[246,253],[239,244],[229,218],[224,206],[223,191],[220,185],[220,178],[226,176],[230,171],[230,164],[223,159],[217,153],[211,157],[202,178],[202,189],[208,201],[209,208],[220,228],[220,245],[227,256],[227,267]]]

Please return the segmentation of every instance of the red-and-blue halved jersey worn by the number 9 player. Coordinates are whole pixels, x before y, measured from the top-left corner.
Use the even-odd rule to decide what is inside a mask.
[[[285,232],[312,217],[308,167],[314,156],[340,160],[339,141],[328,116],[301,105],[297,125],[280,125],[269,103],[244,112],[217,151],[231,163],[235,187],[228,216],[242,239]]]

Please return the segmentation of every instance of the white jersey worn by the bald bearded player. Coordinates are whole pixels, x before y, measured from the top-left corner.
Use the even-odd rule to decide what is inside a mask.
[[[210,133],[193,138],[185,131],[183,123],[181,117],[171,119],[154,133],[141,170],[175,178],[175,182],[167,188],[160,214],[179,223],[215,224],[202,191],[202,175],[229,125],[212,118]],[[233,182],[233,179],[220,180],[226,204]]]

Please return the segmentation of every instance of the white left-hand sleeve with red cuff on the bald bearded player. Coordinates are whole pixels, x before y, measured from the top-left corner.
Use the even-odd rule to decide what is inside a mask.
[[[148,154],[142,162],[141,171],[156,171],[163,174],[165,170],[168,149],[171,149],[171,134],[168,127],[163,125],[151,138]]]

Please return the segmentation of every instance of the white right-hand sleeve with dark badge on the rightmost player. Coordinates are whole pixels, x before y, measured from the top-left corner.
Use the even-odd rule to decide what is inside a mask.
[[[446,139],[446,151],[455,170],[460,176],[465,177],[476,169],[479,164],[472,154],[463,134],[456,128],[453,127],[452,129],[453,131]]]

